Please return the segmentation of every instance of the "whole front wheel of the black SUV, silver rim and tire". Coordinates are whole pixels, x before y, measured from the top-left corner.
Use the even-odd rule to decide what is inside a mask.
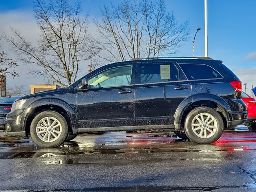
[[[58,112],[44,111],[32,120],[30,135],[40,147],[58,147],[68,137],[68,124]]]

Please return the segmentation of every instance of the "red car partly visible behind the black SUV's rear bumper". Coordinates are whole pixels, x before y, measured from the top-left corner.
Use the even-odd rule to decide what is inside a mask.
[[[245,92],[242,93],[242,100],[247,105],[248,120],[245,125],[249,130],[256,130],[256,100]]]

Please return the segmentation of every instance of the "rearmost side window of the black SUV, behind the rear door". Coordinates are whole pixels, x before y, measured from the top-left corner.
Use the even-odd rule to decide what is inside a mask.
[[[215,69],[203,64],[180,64],[188,80],[222,78]]]

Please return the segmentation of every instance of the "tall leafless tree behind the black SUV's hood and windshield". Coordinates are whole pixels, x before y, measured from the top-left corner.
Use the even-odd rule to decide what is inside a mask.
[[[79,66],[90,58],[86,48],[88,14],[80,15],[80,2],[70,6],[68,0],[49,4],[36,0],[34,17],[40,30],[36,45],[14,28],[11,28],[13,36],[6,36],[6,40],[24,63],[37,64],[44,69],[34,70],[34,74],[68,86],[76,80]]]

